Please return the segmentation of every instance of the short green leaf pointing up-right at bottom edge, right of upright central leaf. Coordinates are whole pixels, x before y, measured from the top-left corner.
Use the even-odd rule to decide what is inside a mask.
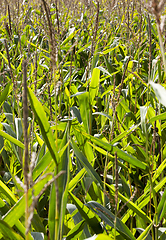
[[[70,232],[67,234],[66,240],[77,240],[84,229],[85,220],[79,222]]]

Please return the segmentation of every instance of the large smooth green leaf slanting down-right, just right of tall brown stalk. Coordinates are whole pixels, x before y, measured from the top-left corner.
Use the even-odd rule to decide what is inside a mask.
[[[32,92],[30,88],[28,88],[28,95],[31,102],[32,110],[35,114],[35,117],[38,121],[40,126],[42,136],[45,140],[45,143],[51,153],[52,158],[54,159],[55,163],[58,163],[58,155],[56,152],[56,144],[53,138],[52,130],[50,128],[50,124],[47,120],[45,111],[42,107],[42,104],[38,101],[35,94]]]

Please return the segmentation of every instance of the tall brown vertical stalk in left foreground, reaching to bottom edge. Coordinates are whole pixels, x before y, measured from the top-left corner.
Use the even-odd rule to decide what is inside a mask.
[[[26,240],[29,240],[28,236],[28,218],[29,218],[29,208],[28,208],[28,171],[29,171],[29,154],[28,154],[28,102],[27,102],[27,61],[23,62],[23,116],[24,116],[24,185],[25,185],[25,227],[26,227]]]

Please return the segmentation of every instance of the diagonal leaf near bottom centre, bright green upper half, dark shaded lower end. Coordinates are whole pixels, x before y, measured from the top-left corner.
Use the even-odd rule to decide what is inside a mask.
[[[101,225],[96,218],[95,214],[90,210],[87,206],[85,206],[77,197],[75,197],[71,192],[69,192],[71,199],[73,200],[74,204],[78,208],[81,216],[85,219],[94,233],[102,233],[103,230]]]

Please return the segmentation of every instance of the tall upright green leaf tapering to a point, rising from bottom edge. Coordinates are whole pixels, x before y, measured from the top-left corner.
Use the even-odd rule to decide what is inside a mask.
[[[67,146],[67,147],[66,147]],[[63,223],[65,218],[67,197],[68,197],[68,184],[69,184],[69,146],[68,146],[68,125],[60,146],[63,149],[63,154],[60,158],[58,165],[58,172],[64,171],[57,180],[57,185],[53,184],[50,194],[49,204],[49,230],[51,239],[61,240],[63,234]],[[56,169],[57,170],[57,169]],[[56,173],[58,173],[56,172]],[[56,190],[58,188],[58,190]],[[58,195],[57,195],[58,191]]]

